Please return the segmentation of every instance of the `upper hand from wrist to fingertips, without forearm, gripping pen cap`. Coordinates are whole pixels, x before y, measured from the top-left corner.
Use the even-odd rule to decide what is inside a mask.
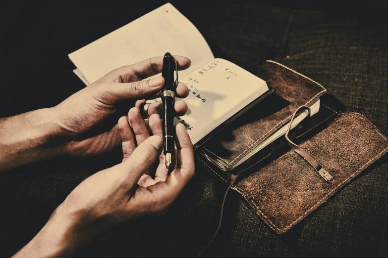
[[[191,65],[186,57],[175,56],[175,59],[179,70]],[[154,57],[118,68],[57,105],[54,108],[56,123],[64,136],[61,151],[73,156],[88,156],[118,146],[118,118],[131,107],[140,108],[146,99],[160,97],[163,77],[143,79],[161,73],[162,64],[163,57]],[[188,88],[179,83],[177,97],[185,98],[188,94]],[[149,116],[161,110],[161,102],[152,103],[148,108]],[[175,111],[181,116],[186,113],[187,105],[177,100]]]

